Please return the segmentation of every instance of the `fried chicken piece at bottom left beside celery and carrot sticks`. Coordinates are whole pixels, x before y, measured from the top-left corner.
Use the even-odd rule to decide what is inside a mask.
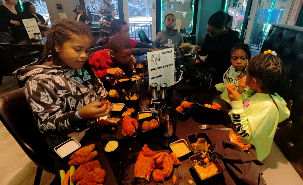
[[[75,173],[72,174],[72,182],[83,179],[86,173],[94,170],[96,167],[101,167],[99,161],[97,160],[80,165]]]

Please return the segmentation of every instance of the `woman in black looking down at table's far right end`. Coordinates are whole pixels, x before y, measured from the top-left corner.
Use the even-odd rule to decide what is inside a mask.
[[[208,19],[205,40],[202,46],[197,45],[194,53],[205,56],[206,62],[215,69],[213,78],[215,83],[222,81],[223,74],[230,66],[229,55],[233,45],[240,43],[239,32],[226,28],[226,23],[231,21],[231,16],[224,12],[216,12]]]

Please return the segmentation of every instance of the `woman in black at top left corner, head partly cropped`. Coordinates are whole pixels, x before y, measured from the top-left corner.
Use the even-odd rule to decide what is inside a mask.
[[[0,6],[0,22],[10,27],[14,39],[22,39],[28,37],[28,34],[22,22],[21,11],[15,8],[17,3],[17,0],[5,0],[5,4]]]

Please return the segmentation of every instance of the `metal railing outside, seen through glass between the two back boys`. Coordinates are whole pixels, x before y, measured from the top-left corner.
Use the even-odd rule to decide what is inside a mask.
[[[148,39],[152,40],[151,23],[146,23],[146,22],[129,22],[130,38],[140,41],[138,31],[141,29],[143,29],[145,31]]]

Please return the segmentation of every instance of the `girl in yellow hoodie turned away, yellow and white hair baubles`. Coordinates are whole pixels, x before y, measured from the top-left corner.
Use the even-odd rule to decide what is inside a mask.
[[[286,102],[276,91],[281,82],[281,60],[271,50],[252,58],[246,71],[246,84],[256,90],[244,104],[236,90],[228,90],[231,120],[238,133],[252,143],[258,160],[268,156],[278,123],[289,117]]]

